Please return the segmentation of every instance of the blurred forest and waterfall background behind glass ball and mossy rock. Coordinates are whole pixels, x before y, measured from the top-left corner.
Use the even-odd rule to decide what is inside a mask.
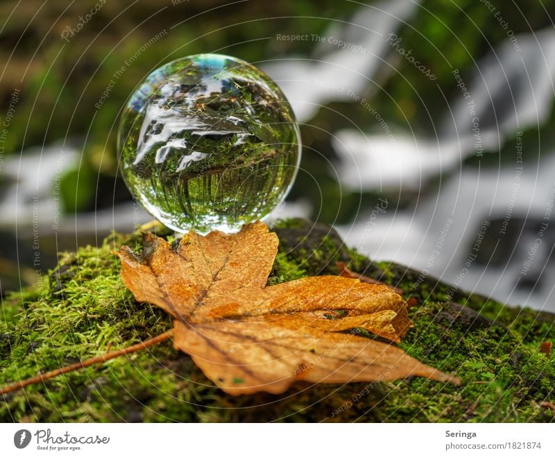
[[[281,216],[555,309],[554,0],[5,0],[0,11],[2,293],[46,275],[60,250],[133,230],[121,107],[156,67],[212,52],[264,69],[296,111],[302,166]]]

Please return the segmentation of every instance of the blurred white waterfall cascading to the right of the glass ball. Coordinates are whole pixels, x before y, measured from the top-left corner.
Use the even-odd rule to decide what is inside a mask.
[[[327,35],[361,44],[366,55],[321,44],[310,58],[280,60],[264,69],[282,85],[300,121],[307,121],[320,105],[364,91],[391,53],[386,35],[417,7],[408,0],[364,7],[350,24],[330,27]],[[461,80],[464,90],[445,106],[438,137],[394,128],[393,135],[370,133],[370,126],[357,120],[360,130],[332,131],[342,187],[418,194],[413,198],[418,203],[409,207],[366,208],[354,225],[336,227],[347,243],[373,259],[423,269],[457,288],[555,311],[555,270],[549,268],[555,240],[541,232],[541,223],[553,225],[555,155],[518,146],[518,132],[549,119],[554,70],[551,28],[518,35],[479,60],[472,78]],[[466,157],[503,146],[513,149],[511,165],[462,166]],[[431,178],[440,177],[438,189],[425,189]],[[493,221],[512,221],[519,228],[509,239],[503,225]],[[480,252],[491,258],[478,259]],[[494,261],[496,256],[502,261]]]

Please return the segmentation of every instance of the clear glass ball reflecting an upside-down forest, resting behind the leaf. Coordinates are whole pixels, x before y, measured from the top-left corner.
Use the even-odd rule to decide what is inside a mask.
[[[251,64],[198,54],[156,69],[119,126],[130,191],[176,232],[237,232],[287,196],[300,162],[293,110]]]

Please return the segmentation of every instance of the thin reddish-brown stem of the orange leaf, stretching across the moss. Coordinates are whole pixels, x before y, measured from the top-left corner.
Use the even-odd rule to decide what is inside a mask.
[[[52,370],[44,374],[37,374],[37,376],[24,379],[23,381],[18,381],[15,383],[8,384],[8,386],[0,388],[0,395],[6,394],[8,392],[13,392],[14,390],[18,390],[25,386],[31,386],[31,384],[37,384],[37,383],[40,383],[41,381],[46,381],[46,379],[51,379],[53,377],[60,376],[60,374],[65,374],[75,370],[80,370],[80,368],[87,368],[91,365],[95,365],[96,363],[104,363],[111,359],[115,359],[116,357],[143,350],[146,347],[157,345],[158,343],[162,343],[162,341],[165,341],[168,338],[170,338],[172,334],[173,334],[172,330],[164,331],[163,334],[155,336],[154,338],[150,338],[149,340],[142,341],[141,343],[137,343],[136,345],[125,347],[123,349],[120,349],[114,352],[107,352],[101,356],[92,357],[91,359],[87,359],[85,361],[79,361],[72,365],[67,365],[65,367],[58,368],[57,370]]]

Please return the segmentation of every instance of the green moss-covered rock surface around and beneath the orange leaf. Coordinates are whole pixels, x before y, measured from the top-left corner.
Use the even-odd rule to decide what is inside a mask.
[[[169,341],[28,386],[3,397],[0,420],[20,422],[554,422],[555,316],[452,293],[436,280],[345,248],[325,226],[276,225],[280,255],[269,282],[336,273],[336,260],[405,291],[416,300],[414,327],[402,347],[421,361],[454,372],[461,386],[421,378],[312,386],[282,395],[230,397],[212,386]],[[307,233],[308,236],[307,236]],[[171,236],[169,237],[171,240]],[[139,234],[110,236],[99,247],[60,255],[40,286],[12,293],[0,320],[0,383],[52,370],[145,340],[171,327],[167,314],[135,302],[110,252]],[[419,283],[415,286],[415,283]],[[412,300],[414,301],[414,300]],[[456,303],[454,303],[456,302]],[[464,306],[460,306],[464,305]]]

